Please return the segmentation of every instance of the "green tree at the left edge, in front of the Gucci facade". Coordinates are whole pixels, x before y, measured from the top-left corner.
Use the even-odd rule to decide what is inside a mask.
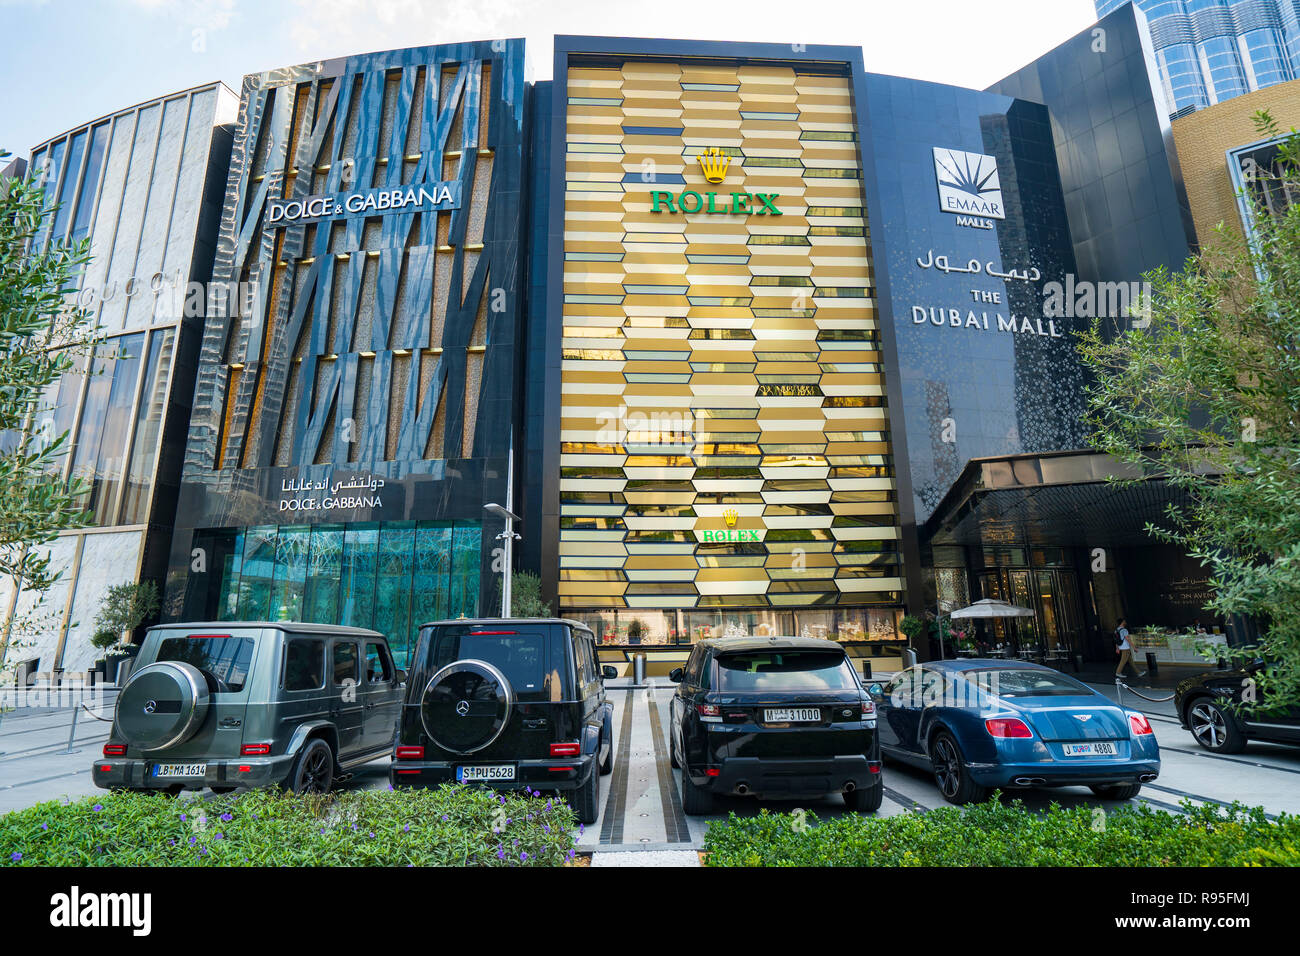
[[[95,341],[90,316],[65,299],[88,243],[46,242],[56,208],[42,182],[0,177],[0,575],[38,593],[58,576],[40,545],[88,519],[84,484],[61,477],[68,434],[49,427],[49,386]]]

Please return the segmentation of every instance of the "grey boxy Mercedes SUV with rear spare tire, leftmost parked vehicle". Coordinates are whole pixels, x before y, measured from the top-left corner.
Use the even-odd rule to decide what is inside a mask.
[[[376,631],[285,622],[151,628],[117,696],[95,784],[324,793],[391,752],[404,678]]]

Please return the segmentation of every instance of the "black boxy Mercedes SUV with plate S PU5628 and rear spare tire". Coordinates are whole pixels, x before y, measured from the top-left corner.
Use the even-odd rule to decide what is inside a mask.
[[[594,823],[614,769],[614,705],[592,631],[558,618],[420,628],[398,726],[394,787],[482,783],[566,791]]]

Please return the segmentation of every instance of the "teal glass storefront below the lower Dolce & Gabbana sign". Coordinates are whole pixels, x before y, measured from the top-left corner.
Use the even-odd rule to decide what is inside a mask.
[[[268,524],[200,531],[216,588],[190,620],[307,620],[387,635],[404,667],[420,624],[478,614],[482,527],[459,522]]]

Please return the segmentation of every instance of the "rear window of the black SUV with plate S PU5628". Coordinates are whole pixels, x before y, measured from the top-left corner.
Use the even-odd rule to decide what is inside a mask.
[[[568,669],[563,645],[545,628],[448,624],[429,636],[425,662],[432,676],[456,661],[485,661],[506,675],[515,693],[559,701]]]

